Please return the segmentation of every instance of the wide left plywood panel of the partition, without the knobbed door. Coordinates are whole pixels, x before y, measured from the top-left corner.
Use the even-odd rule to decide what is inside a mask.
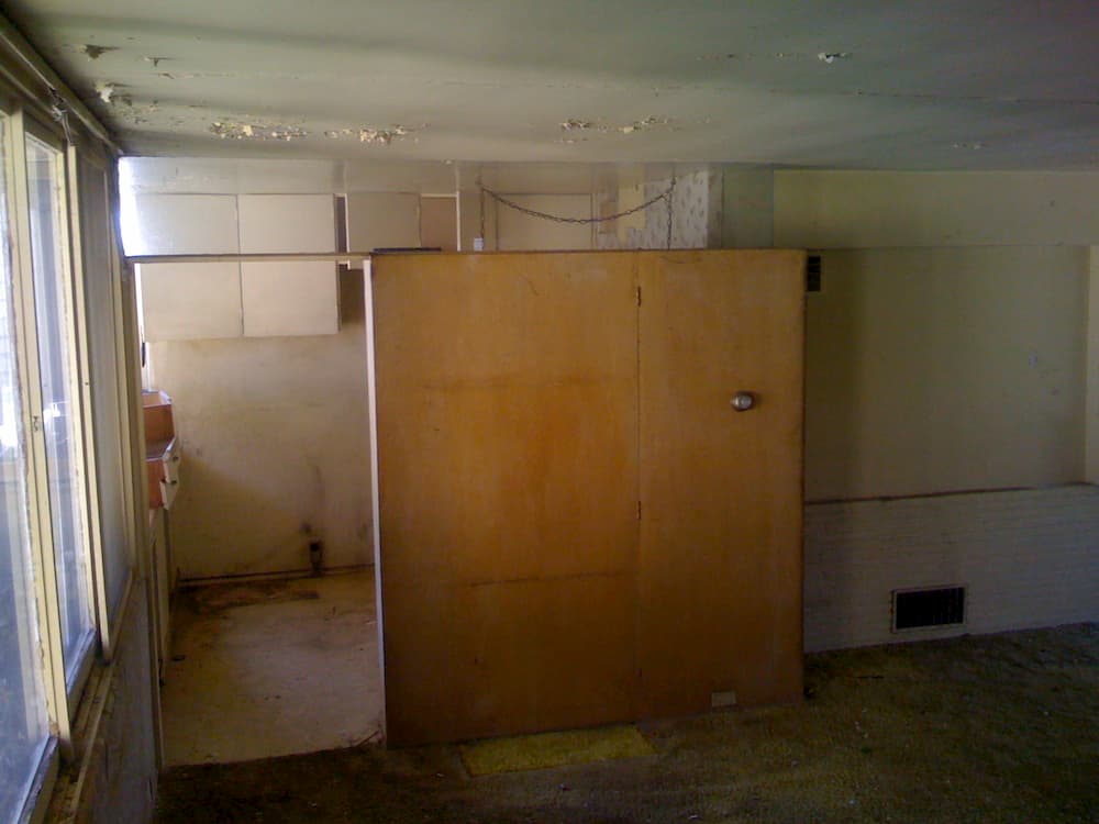
[[[630,254],[374,261],[391,743],[629,716],[634,282]]]

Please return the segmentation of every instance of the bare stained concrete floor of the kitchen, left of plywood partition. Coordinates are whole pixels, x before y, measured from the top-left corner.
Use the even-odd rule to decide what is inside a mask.
[[[245,761],[377,736],[373,571],[185,590],[163,690],[167,764]]]

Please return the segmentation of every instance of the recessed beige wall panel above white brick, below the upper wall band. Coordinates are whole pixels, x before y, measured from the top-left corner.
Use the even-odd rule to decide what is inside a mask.
[[[808,303],[807,495],[1081,480],[1086,254],[826,252]]]

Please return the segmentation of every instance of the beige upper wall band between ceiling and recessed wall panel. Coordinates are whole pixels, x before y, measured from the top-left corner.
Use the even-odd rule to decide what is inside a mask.
[[[1099,174],[775,172],[777,246],[1087,246],[1097,242]]]

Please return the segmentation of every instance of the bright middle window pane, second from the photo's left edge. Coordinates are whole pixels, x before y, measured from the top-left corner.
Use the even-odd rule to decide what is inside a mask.
[[[65,676],[71,686],[92,632],[88,548],[80,510],[80,421],[73,397],[71,310],[60,232],[60,153],[26,141],[31,202],[31,258],[42,380],[42,428],[46,439],[49,515],[54,530]]]

